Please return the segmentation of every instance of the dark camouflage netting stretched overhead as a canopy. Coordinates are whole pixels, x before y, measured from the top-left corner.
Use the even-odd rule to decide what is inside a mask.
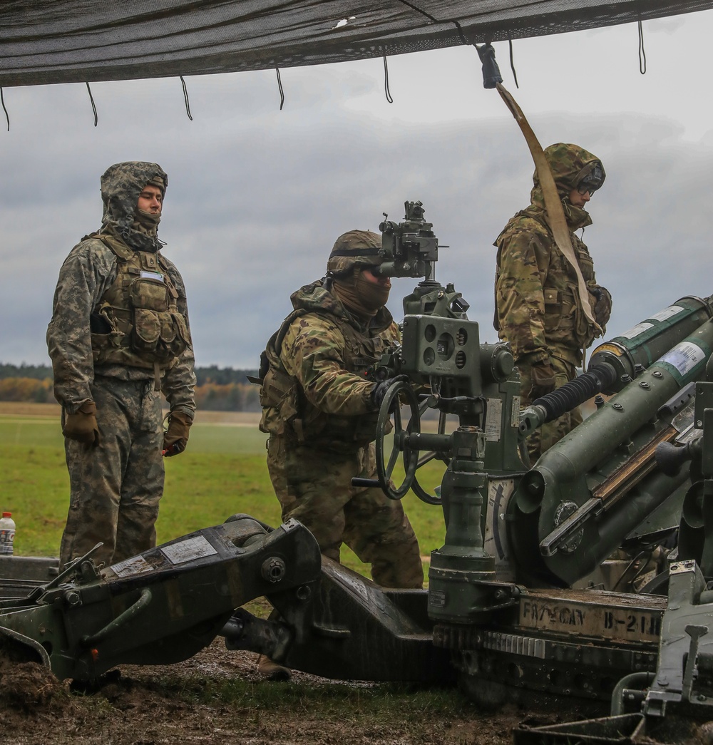
[[[712,7],[713,0],[3,0],[0,86],[317,65]]]

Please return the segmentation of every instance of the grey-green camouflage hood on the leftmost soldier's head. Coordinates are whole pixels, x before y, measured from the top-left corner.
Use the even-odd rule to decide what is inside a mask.
[[[110,165],[101,177],[101,200],[104,202],[101,229],[114,232],[133,249],[157,251],[162,246],[157,235],[152,237],[133,229],[136,203],[148,183],[158,186],[165,194],[168,176],[160,165],[143,161]]]

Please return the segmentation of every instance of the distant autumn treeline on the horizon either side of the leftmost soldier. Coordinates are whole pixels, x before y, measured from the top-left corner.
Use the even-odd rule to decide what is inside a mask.
[[[196,405],[209,411],[259,411],[258,387],[247,381],[257,370],[197,367]],[[0,401],[54,403],[48,365],[0,363]]]

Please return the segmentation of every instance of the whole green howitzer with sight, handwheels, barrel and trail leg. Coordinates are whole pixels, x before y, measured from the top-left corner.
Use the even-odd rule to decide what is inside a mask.
[[[381,271],[423,279],[405,298],[402,342],[373,370],[399,380],[381,403],[367,485],[442,508],[428,589],[375,586],[320,557],[295,521],[272,530],[235,516],[113,567],[88,556],[54,580],[6,585],[0,641],[92,680],[223,635],[228,650],[340,679],[457,676],[488,706],[539,692],[610,704],[616,717],[635,701],[639,729],[692,705],[713,718],[712,298],[679,299],[603,343],[580,378],[521,411],[509,346],[483,343],[468,303],[436,281],[433,226],[421,203],[405,207],[402,223],[381,223]],[[527,435],[591,396],[595,413],[530,467]],[[428,410],[437,431],[422,431]],[[418,478],[431,460],[445,467],[433,491]],[[275,617],[240,607],[259,595]],[[580,731],[516,739],[560,732]]]

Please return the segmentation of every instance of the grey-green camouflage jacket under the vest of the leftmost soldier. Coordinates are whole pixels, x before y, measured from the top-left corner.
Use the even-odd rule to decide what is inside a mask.
[[[167,285],[177,296],[174,298],[174,305],[185,322],[186,339],[190,340],[183,278],[174,264],[159,253],[161,244],[157,238],[133,235],[130,229],[136,200],[153,173],[150,168],[145,168],[148,166],[153,164],[136,164],[135,188],[124,188],[121,192],[124,197],[121,207],[115,204],[120,190],[113,189],[111,183],[103,181],[105,212],[100,234],[105,239],[110,236],[108,242],[116,247],[123,246],[126,254],[136,251],[156,257],[156,263],[167,275]],[[121,178],[125,184],[127,174],[121,174]],[[113,218],[107,218],[107,209]],[[98,308],[113,291],[119,276],[120,263],[116,251],[107,245],[106,240],[97,236],[98,234],[93,234],[83,238],[64,261],[54,292],[52,319],[47,329],[48,352],[54,372],[54,396],[70,413],[74,413],[83,402],[92,399],[89,385],[95,375],[121,380],[153,380],[156,375],[153,364],[131,364],[130,356],[123,363],[115,359],[107,360],[104,355],[98,354],[96,341],[92,345],[92,331],[96,330],[97,321],[101,322],[97,316]],[[93,336],[96,340],[97,335]],[[186,346],[172,360],[168,369],[164,369],[165,365],[159,367],[162,368],[161,390],[171,409],[183,410],[192,416],[195,410],[195,375],[191,346]]]

